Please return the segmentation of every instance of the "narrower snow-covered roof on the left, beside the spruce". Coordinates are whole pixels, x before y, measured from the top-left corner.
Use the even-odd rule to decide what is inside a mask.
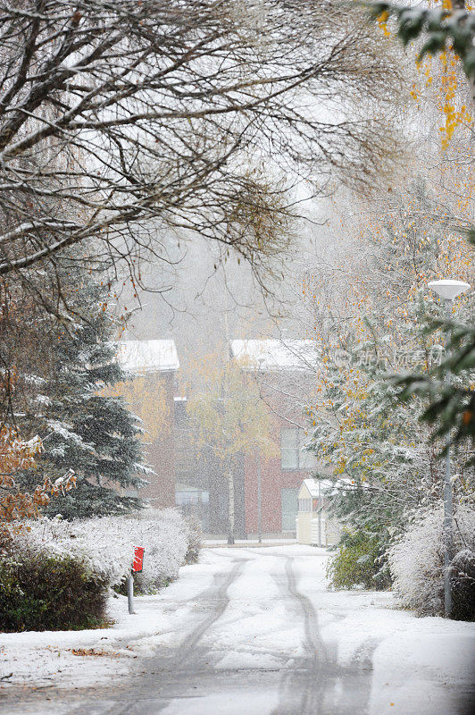
[[[179,358],[175,341],[121,341],[119,361],[132,373],[156,373],[178,370]]]

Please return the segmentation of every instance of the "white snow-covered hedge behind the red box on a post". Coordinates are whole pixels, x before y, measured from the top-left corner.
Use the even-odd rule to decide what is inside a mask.
[[[109,585],[120,585],[130,573],[134,547],[145,547],[144,591],[154,591],[178,576],[185,562],[190,526],[176,509],[147,510],[127,517],[94,517],[65,521],[43,517],[14,534],[15,547],[80,559]]]

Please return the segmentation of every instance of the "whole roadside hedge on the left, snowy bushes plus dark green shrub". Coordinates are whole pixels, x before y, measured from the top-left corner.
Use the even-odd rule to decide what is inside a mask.
[[[123,589],[138,545],[146,554],[136,592],[156,593],[197,560],[201,535],[175,509],[13,528],[0,544],[0,630],[101,625],[108,593]]]

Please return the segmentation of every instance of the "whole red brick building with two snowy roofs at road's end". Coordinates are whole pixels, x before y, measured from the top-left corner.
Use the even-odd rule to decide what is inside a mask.
[[[273,417],[271,436],[279,446],[275,458],[254,453],[234,459],[235,534],[295,535],[298,491],[317,467],[312,454],[303,450],[308,437],[301,407],[316,384],[315,344],[245,340],[230,341],[229,349],[230,358],[252,371],[259,384],[261,399]],[[228,485],[212,451],[200,453],[194,446],[187,399],[177,391],[175,342],[123,341],[120,359],[129,372],[146,381],[146,400],[165,412],[160,433],[147,435],[146,459],[155,474],[148,477],[140,497],[156,508],[177,506],[184,514],[195,515],[205,534],[226,534]]]

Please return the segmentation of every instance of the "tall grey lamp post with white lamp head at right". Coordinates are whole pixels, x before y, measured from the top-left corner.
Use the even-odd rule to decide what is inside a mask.
[[[454,298],[470,289],[470,284],[464,281],[453,281],[446,279],[443,281],[429,282],[429,288],[434,290],[437,295],[444,299],[446,303],[447,320],[452,315],[452,305]],[[450,341],[450,333],[447,332],[446,337],[446,352],[448,352],[448,344]],[[450,373],[446,370],[446,385],[450,384]],[[446,433],[446,475],[444,481],[444,610],[446,618],[450,617],[452,611],[452,592],[450,588],[449,568],[452,560],[452,551],[454,548],[454,523],[453,523],[453,504],[452,504],[452,482],[450,479],[450,431]]]

